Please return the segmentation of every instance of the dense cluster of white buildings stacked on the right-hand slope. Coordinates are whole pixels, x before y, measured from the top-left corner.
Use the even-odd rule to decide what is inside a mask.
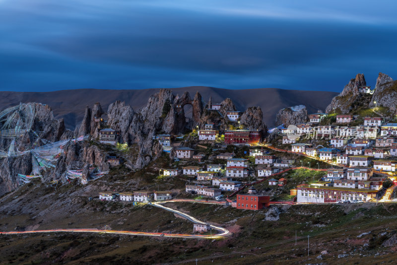
[[[370,88],[362,88],[369,93]],[[397,123],[385,123],[383,117],[365,117],[363,124],[348,125],[358,118],[352,115],[336,115],[335,125],[319,125],[327,113],[309,115],[310,122],[297,125],[297,129],[282,129],[282,143],[289,144],[291,152],[324,160],[344,169],[329,169],[322,181],[299,185],[298,202],[368,201],[376,198],[382,189],[381,177],[375,173],[395,172],[397,161]],[[329,136],[328,147],[314,147],[296,143],[291,134],[300,134],[300,139],[314,135]],[[270,179],[269,184],[278,184]]]

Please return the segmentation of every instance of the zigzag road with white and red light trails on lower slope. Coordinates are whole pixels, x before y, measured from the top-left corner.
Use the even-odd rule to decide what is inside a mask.
[[[183,213],[178,210],[174,210],[169,207],[165,207],[161,204],[166,202],[195,202],[195,203],[205,203],[205,204],[221,204],[225,205],[224,201],[207,201],[207,200],[191,200],[191,199],[174,199],[161,202],[152,202],[151,205],[162,208],[166,211],[176,213],[195,224],[206,224],[193,216]],[[119,230],[100,230],[100,229],[90,229],[90,228],[74,228],[74,229],[48,229],[48,230],[34,230],[34,231],[10,231],[10,232],[0,232],[0,235],[18,235],[18,234],[34,234],[34,233],[59,233],[59,232],[72,232],[72,233],[104,233],[104,234],[119,234],[119,235],[131,235],[131,236],[150,236],[150,237],[173,237],[173,238],[203,238],[203,239],[215,239],[232,235],[229,230],[210,225],[210,228],[216,230],[218,233],[213,235],[199,235],[199,234],[170,234],[170,233],[151,233],[151,232],[137,232],[137,231],[119,231]]]

